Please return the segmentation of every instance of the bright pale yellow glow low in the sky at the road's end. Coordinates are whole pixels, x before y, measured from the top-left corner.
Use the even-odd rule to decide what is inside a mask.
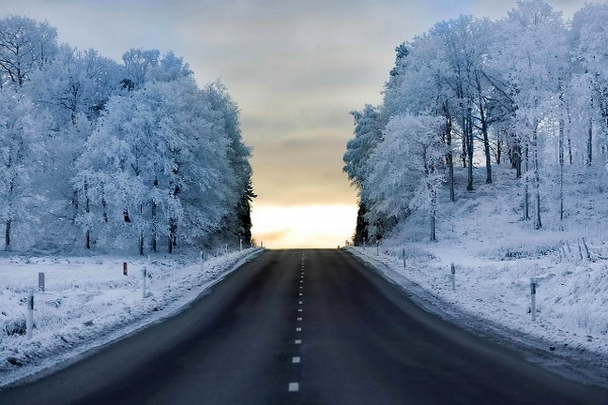
[[[354,205],[257,206],[254,237],[268,248],[342,246],[353,236],[356,216]]]

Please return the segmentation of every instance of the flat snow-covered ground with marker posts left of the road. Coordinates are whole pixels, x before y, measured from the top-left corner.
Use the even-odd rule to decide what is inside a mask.
[[[109,255],[0,257],[0,387],[75,361],[170,316],[258,252],[210,257],[202,268],[195,252],[150,261]],[[142,299],[144,265],[147,297]],[[26,339],[27,290],[37,287],[39,271],[45,273],[46,291],[35,292],[33,338]]]

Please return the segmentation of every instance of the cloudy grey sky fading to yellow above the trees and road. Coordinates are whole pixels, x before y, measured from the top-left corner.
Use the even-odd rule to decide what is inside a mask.
[[[569,18],[584,0],[552,0]],[[342,172],[350,111],[381,101],[395,47],[461,14],[492,19],[516,1],[0,0],[0,16],[57,27],[61,43],[122,60],[173,50],[199,84],[221,79],[253,148],[254,238],[335,247],[354,233],[356,190]]]

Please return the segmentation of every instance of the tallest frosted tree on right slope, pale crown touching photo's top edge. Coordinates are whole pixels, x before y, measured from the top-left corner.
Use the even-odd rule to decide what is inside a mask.
[[[534,189],[534,227],[541,228],[542,124],[559,100],[559,82],[567,63],[561,13],[542,0],[519,2],[498,24],[491,64],[502,72],[503,91],[513,100],[513,123],[524,148],[523,217],[529,219],[529,185]],[[530,173],[530,165],[532,173]]]

